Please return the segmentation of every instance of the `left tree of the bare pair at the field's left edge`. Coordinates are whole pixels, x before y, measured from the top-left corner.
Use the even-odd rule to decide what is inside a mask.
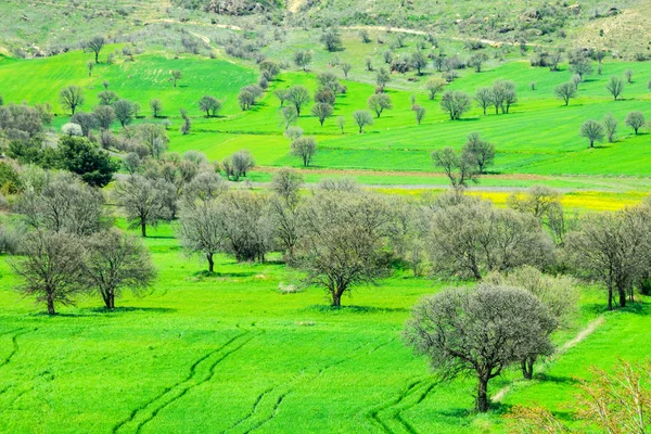
[[[29,232],[22,251],[24,255],[10,263],[21,282],[18,290],[46,302],[49,315],[56,315],[55,303],[74,305],[75,295],[86,289],[79,239],[64,232]]]

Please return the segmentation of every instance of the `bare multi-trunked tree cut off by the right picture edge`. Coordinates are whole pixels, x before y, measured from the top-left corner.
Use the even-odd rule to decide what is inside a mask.
[[[608,291],[608,308],[615,293],[620,306],[633,298],[636,281],[651,267],[651,212],[637,206],[582,218],[580,228],[565,238],[569,264],[578,277],[601,282]]]

